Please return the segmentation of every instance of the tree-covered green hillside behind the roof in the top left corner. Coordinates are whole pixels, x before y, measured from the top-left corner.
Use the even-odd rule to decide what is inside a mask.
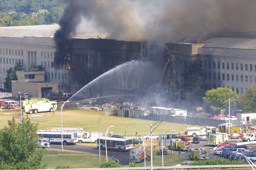
[[[0,27],[57,24],[63,9],[54,0],[0,0]]]

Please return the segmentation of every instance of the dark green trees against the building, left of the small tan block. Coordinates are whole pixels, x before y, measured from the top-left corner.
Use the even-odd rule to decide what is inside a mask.
[[[24,70],[24,65],[22,64],[21,60],[19,59],[18,62],[15,64],[14,67],[9,68],[6,72],[6,78],[4,81],[4,85],[6,89],[11,89],[11,81],[18,80],[16,71]]]

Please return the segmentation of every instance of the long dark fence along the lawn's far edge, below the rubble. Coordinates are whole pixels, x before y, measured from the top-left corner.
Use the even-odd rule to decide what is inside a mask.
[[[129,117],[144,120],[155,120],[158,121],[167,115],[160,114],[146,114],[144,110],[128,110],[128,109],[115,109],[114,115],[118,117]],[[190,125],[200,125],[200,126],[215,126],[219,127],[219,124],[229,123],[228,120],[213,119],[212,117],[199,117],[199,116],[175,116],[166,117],[163,121],[176,124],[190,124]],[[241,126],[241,120],[230,120],[234,126]]]

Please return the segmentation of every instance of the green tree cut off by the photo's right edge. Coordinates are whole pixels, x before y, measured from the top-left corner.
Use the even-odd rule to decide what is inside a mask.
[[[245,95],[238,96],[236,106],[244,112],[256,112],[256,85],[247,89]]]

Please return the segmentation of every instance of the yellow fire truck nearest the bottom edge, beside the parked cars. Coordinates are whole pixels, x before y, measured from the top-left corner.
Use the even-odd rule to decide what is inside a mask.
[[[189,159],[209,159],[209,151],[202,148],[190,148],[187,150],[187,157]]]

